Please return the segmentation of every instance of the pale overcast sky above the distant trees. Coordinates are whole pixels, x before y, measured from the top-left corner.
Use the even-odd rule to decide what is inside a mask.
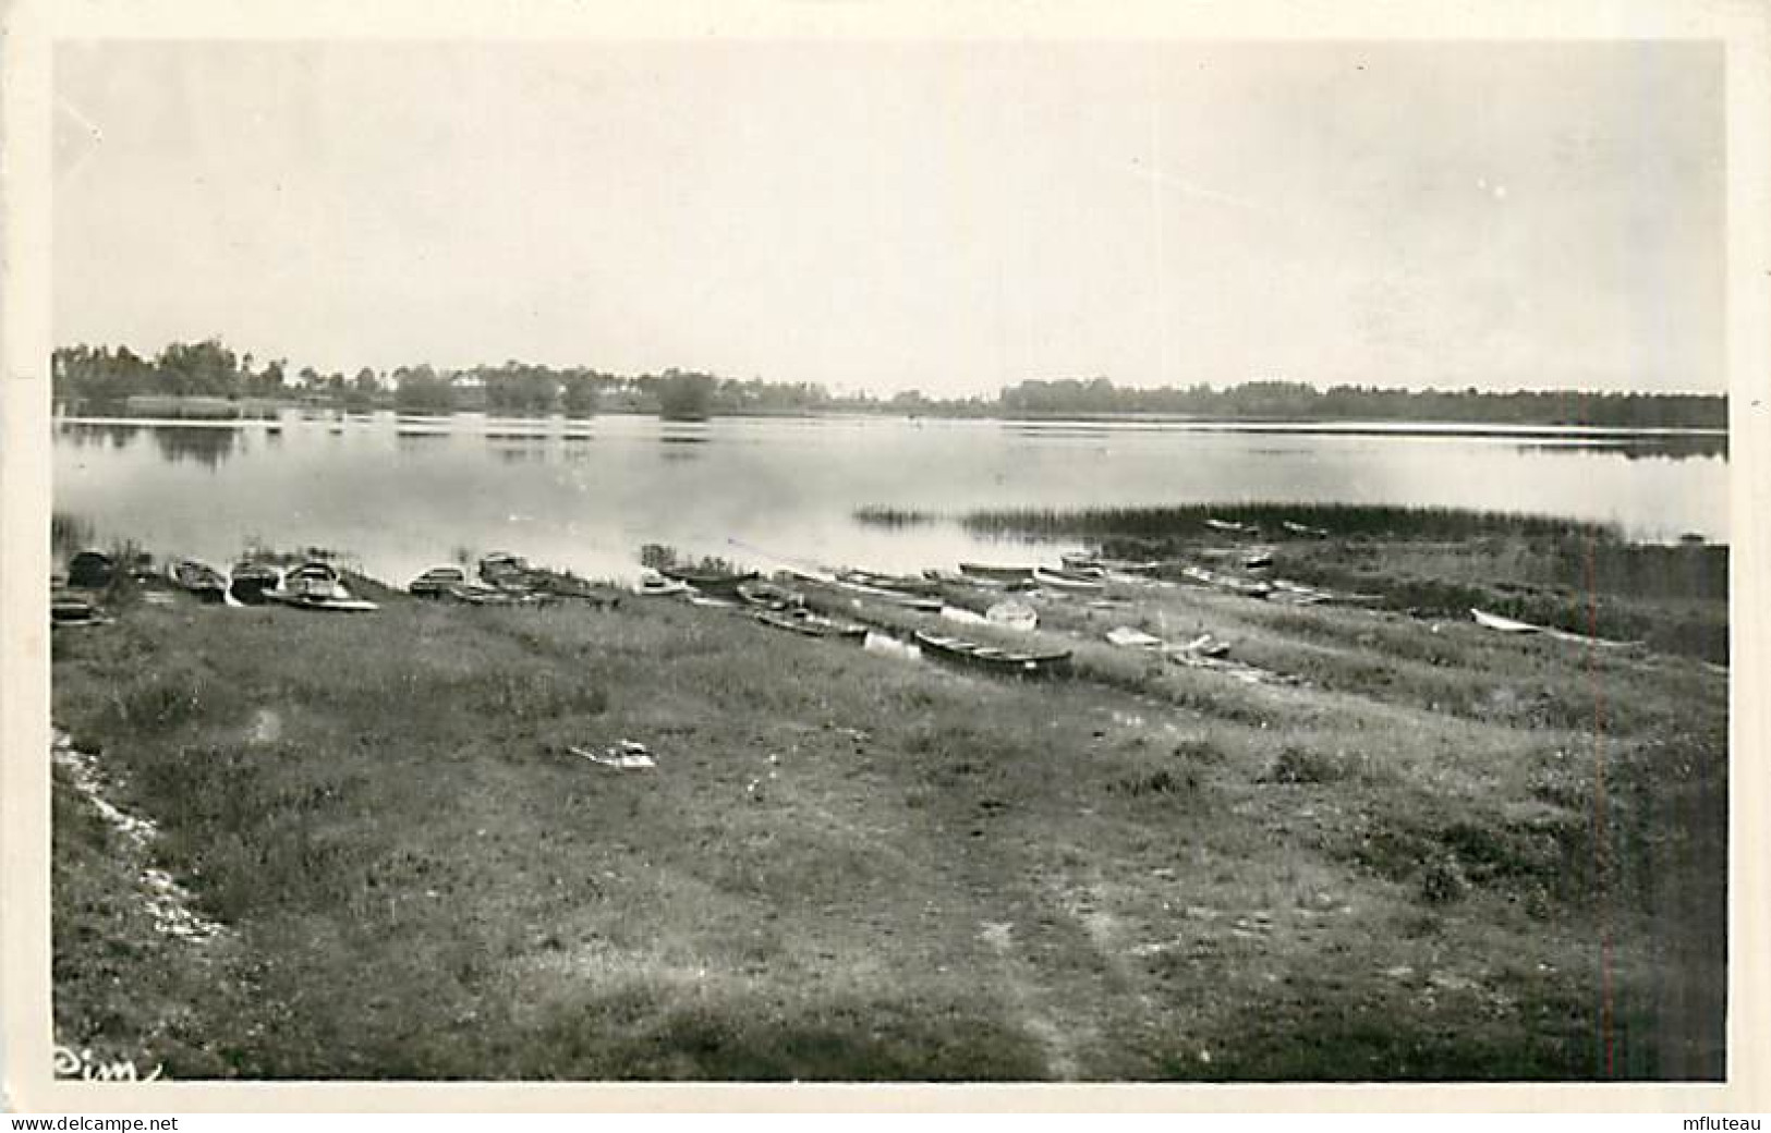
[[[55,338],[1723,388],[1700,44],[78,44]]]

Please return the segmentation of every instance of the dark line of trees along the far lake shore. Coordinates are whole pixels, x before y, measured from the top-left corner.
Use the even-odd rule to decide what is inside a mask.
[[[1640,428],[1727,428],[1728,402],[1695,393],[1580,393],[1468,389],[1388,389],[1254,381],[1217,389],[1208,384],[1139,389],[1107,377],[1024,381],[999,397],[930,398],[917,389],[877,398],[832,395],[818,382],[731,379],[700,370],[620,375],[588,366],[540,366],[515,359],[464,370],[430,365],[377,374],[360,368],[321,374],[273,358],[262,365],[220,340],[175,342],[152,358],[129,347],[55,351],[55,395],[81,411],[126,412],[133,397],[209,397],[305,402],[340,409],[400,412],[485,411],[494,414],[593,416],[657,412],[700,420],[717,414],[891,412],[907,416],[1109,416],[1165,414],[1236,420],[1376,420],[1496,425],[1594,425]]]

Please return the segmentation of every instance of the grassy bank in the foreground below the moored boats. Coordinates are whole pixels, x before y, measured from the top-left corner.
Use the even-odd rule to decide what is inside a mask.
[[[1034,685],[669,600],[379,597],[119,590],[57,636],[57,722],[230,929],[131,919],[58,784],[66,1043],[253,1078],[1721,1073],[1700,666],[1148,586],[1040,600],[1077,678]],[[657,768],[570,751],[620,740]]]

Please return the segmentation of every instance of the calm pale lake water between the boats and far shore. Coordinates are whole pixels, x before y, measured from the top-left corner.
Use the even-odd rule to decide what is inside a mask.
[[[55,510],[108,543],[227,565],[250,543],[329,547],[404,582],[460,552],[514,551],[627,577],[643,543],[754,566],[914,570],[1025,561],[953,522],[854,512],[1238,499],[1443,505],[1725,540],[1714,444],[1582,430],[1201,427],[901,418],[666,423],[285,412],[243,425],[60,420]],[[1056,547],[1052,547],[1056,551]]]

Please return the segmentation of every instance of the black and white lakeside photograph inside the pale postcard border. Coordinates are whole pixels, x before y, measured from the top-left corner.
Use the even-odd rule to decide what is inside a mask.
[[[58,39],[55,1076],[1725,1082],[1727,62]]]

